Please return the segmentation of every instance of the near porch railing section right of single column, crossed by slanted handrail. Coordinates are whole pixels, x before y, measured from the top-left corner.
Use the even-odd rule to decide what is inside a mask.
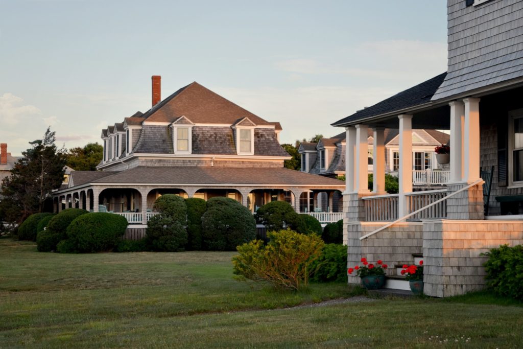
[[[433,202],[436,202],[447,195],[447,189],[443,190],[426,190],[424,192],[414,192],[405,194],[407,197],[408,213],[415,212],[423,207],[426,207]],[[430,206],[411,218],[413,219],[427,219],[427,218],[445,218],[447,217],[447,201],[441,201],[436,205]]]

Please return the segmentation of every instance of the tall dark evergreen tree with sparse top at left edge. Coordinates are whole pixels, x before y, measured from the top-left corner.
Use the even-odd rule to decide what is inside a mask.
[[[48,128],[43,139],[29,142],[31,148],[2,182],[1,215],[8,222],[20,223],[32,213],[42,212],[44,202],[63,182],[65,149],[58,149],[55,132]]]

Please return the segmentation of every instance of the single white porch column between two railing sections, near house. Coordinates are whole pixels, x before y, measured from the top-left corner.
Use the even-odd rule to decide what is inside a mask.
[[[400,186],[398,217],[408,212],[406,193],[412,192],[412,115],[399,115],[400,119]]]

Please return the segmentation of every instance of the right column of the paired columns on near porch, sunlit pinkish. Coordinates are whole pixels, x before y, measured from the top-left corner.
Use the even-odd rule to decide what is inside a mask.
[[[472,183],[480,178],[480,99],[465,98],[463,137],[463,179]]]

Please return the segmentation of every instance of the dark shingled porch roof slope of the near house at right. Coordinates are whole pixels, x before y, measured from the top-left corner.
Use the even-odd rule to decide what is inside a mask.
[[[439,74],[425,82],[414,87],[408,88],[403,92],[382,100],[371,107],[357,111],[355,114],[347,116],[341,120],[332,123],[332,126],[351,125],[355,122],[383,114],[388,114],[396,110],[415,107],[430,102],[439,85],[445,79],[447,73]]]

